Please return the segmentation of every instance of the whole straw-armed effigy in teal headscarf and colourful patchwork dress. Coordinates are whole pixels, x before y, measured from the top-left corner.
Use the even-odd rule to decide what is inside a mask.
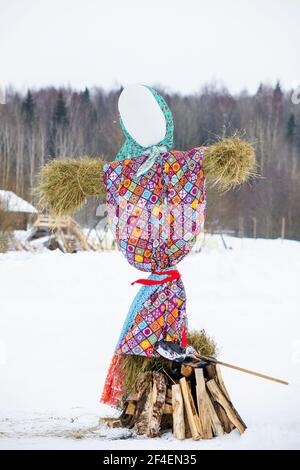
[[[105,194],[120,251],[132,266],[150,274],[133,283],[142,286],[121,330],[101,397],[112,406],[126,393],[124,356],[153,358],[162,341],[188,346],[186,293],[178,265],[203,229],[206,179],[227,190],[243,183],[255,168],[251,144],[237,136],[174,150],[171,110],[148,86],[126,87],[119,113],[125,141],[114,161],[53,160],[43,168],[40,184],[42,203],[58,215],[73,212],[87,196]]]

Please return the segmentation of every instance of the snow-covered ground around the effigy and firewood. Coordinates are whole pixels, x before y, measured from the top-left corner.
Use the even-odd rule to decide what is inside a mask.
[[[248,425],[211,441],[137,438],[108,430],[98,404],[140,277],[120,253],[0,255],[0,448],[299,449],[300,244],[226,239],[180,264],[190,328],[220,358],[284,378],[279,385],[223,368]]]

